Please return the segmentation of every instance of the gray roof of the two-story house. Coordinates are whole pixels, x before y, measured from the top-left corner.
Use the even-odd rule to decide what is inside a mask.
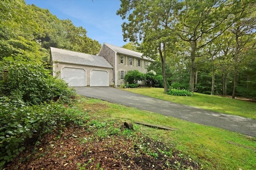
[[[143,59],[152,61],[152,59],[150,59],[148,57],[145,57],[145,56],[142,57],[143,53],[139,53],[137,51],[132,51],[132,50],[129,50],[129,49],[125,49],[123,47],[117,47],[115,45],[111,45],[111,44],[108,44],[108,43],[104,43],[104,44],[106,46],[108,46],[110,49],[112,49],[113,51],[115,51],[116,53],[119,53],[119,54],[122,54],[122,55],[132,56],[132,57],[143,58]]]

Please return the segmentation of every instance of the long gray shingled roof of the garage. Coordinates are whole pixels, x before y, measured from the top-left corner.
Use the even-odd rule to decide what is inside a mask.
[[[113,68],[104,57],[50,47],[52,61],[88,66]]]

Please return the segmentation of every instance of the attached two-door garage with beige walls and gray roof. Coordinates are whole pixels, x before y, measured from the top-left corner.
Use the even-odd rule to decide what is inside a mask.
[[[52,75],[68,86],[110,86],[113,67],[102,56],[51,47]]]

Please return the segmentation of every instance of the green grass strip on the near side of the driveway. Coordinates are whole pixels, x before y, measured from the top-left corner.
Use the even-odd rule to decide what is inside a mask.
[[[156,92],[154,95],[157,94]],[[162,96],[168,98],[165,95]],[[80,109],[94,106],[100,106],[102,109],[97,107],[95,111],[88,111],[88,115],[98,121],[108,122],[116,119],[144,121],[177,128],[177,131],[165,131],[138,125],[143,135],[175,147],[184,156],[200,162],[202,169],[256,169],[256,138],[254,137],[102,100],[82,98],[78,104]]]

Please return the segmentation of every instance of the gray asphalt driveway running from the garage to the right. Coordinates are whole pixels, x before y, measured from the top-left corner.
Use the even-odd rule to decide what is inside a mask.
[[[136,107],[186,121],[219,127],[256,137],[256,120],[207,111],[111,87],[75,87],[78,94],[90,98]]]

